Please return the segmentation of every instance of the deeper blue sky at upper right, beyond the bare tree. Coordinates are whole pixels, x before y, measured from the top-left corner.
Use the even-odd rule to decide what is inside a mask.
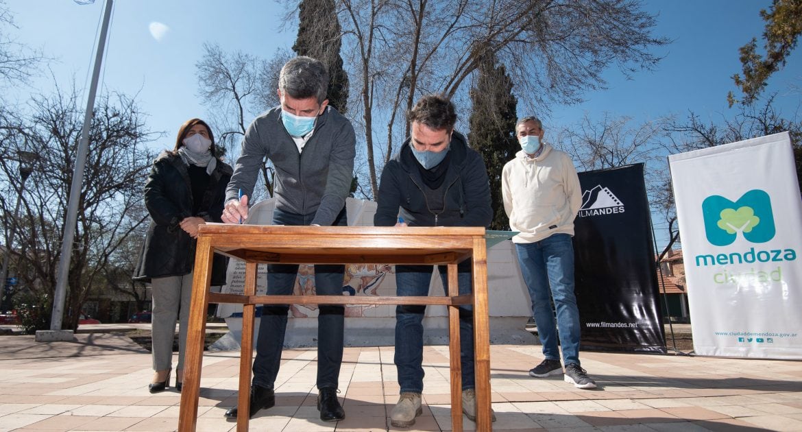
[[[664,56],[657,69],[632,79],[611,69],[606,74],[607,90],[589,92],[585,103],[556,108],[552,120],[572,124],[584,112],[593,118],[610,112],[638,120],[670,113],[683,116],[688,110],[704,120],[731,116],[735,109],[727,108],[727,92],[735,91],[730,77],[741,71],[738,48],[752,37],[762,48],[764,21],[759,10],[769,6],[768,1],[744,0],[646,2],[646,10],[658,14],[654,34],[673,41],[656,50]],[[787,116],[802,110],[802,49],[792,53],[784,70],[772,75],[768,92],[773,91],[779,92],[776,102]]]

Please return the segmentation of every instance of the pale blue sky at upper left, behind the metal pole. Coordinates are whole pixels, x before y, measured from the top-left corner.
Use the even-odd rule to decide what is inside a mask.
[[[73,76],[79,88],[87,88],[103,0],[85,6],[70,0],[11,0],[7,6],[19,27],[14,32],[18,42],[55,57],[50,66],[63,88],[68,88]],[[291,47],[295,39],[294,31],[279,30],[282,14],[276,3],[261,0],[116,0],[103,60],[103,86],[129,96],[138,92],[140,108],[150,115],[149,128],[168,132],[153,146],[172,148],[180,124],[205,117],[195,76],[201,45],[219,43],[225,51],[269,58],[277,47]],[[159,39],[150,31],[153,22],[168,28]],[[52,88],[50,71],[43,70],[42,75],[30,88],[19,88],[20,96]],[[81,107],[85,104],[84,99]]]

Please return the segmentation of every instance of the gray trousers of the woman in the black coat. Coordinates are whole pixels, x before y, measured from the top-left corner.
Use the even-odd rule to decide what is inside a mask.
[[[151,287],[153,292],[151,324],[153,370],[172,368],[172,340],[176,334],[176,318],[180,323],[176,369],[184,369],[189,301],[192,299],[192,273],[183,276],[153,278]]]

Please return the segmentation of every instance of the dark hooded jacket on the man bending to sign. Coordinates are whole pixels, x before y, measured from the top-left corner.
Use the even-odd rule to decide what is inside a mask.
[[[479,153],[460,132],[452,134],[445,180],[427,188],[412,154],[410,139],[384,165],[379,183],[375,226],[394,226],[403,218],[409,226],[489,226],[492,221],[488,172]],[[437,196],[434,196],[434,195]],[[433,203],[442,203],[434,208]]]

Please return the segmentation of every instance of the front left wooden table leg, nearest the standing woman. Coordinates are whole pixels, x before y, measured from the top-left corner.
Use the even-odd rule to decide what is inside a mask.
[[[195,430],[198,397],[201,395],[201,364],[206,338],[206,310],[209,307],[209,283],[212,281],[212,239],[198,236],[195,252],[195,275],[192,278],[192,301],[189,306],[189,323],[181,332],[187,332],[184,354],[184,387],[181,390],[181,408],[178,430]]]

